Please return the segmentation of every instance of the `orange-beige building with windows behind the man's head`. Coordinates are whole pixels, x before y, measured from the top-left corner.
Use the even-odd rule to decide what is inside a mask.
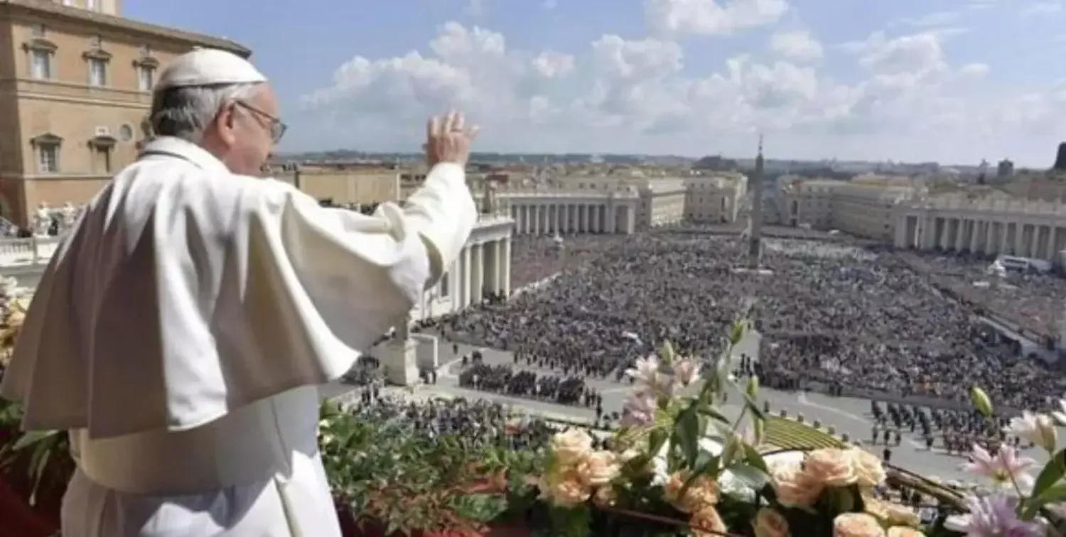
[[[232,42],[119,16],[118,0],[0,3],[0,215],[87,201],[132,162],[161,65]]]

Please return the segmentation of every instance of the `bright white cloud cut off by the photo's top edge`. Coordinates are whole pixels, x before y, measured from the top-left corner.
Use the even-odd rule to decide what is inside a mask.
[[[788,10],[787,0],[644,0],[659,35],[728,35],[776,22]]]

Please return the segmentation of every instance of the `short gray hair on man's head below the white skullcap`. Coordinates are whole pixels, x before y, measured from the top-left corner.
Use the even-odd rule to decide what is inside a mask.
[[[148,120],[157,136],[176,136],[199,144],[204,130],[226,104],[251,99],[261,84],[214,84],[169,87],[151,98]]]

